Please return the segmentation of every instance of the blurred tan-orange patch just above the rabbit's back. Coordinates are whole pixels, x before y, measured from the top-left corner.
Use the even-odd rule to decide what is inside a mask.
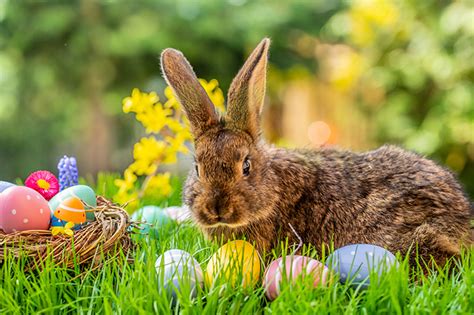
[[[288,81],[282,99],[281,136],[295,147],[318,147],[311,143],[308,128],[322,121],[330,130],[326,145],[370,149],[370,123],[360,109],[351,106],[351,97],[316,79]]]

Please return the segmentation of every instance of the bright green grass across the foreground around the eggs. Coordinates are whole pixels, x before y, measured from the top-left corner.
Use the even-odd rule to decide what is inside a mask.
[[[178,182],[175,187],[175,194],[163,203],[179,202]],[[372,279],[376,285],[366,290],[337,281],[312,288],[301,279],[283,285],[280,296],[269,302],[261,285],[232,288],[221,279],[213,287],[199,289],[195,299],[179,295],[172,306],[158,284],[157,257],[168,249],[182,249],[204,269],[219,244],[205,240],[190,223],[172,223],[163,227],[158,239],[137,238],[137,244],[134,263],[127,264],[122,257],[95,271],[66,269],[47,261],[42,271],[24,272],[23,259],[7,257],[0,267],[0,314],[470,314],[474,310],[474,250],[465,252],[452,271],[441,269],[426,276],[401,260],[378,281]],[[314,251],[307,253],[325,259]]]

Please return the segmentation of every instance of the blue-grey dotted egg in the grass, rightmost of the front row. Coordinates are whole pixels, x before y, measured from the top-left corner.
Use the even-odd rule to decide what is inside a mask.
[[[388,250],[370,244],[347,245],[335,250],[326,265],[337,272],[342,283],[367,287],[371,271],[381,274],[396,264],[395,256]]]

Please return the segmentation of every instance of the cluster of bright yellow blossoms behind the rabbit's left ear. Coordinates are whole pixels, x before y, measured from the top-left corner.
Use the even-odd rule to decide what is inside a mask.
[[[218,111],[224,112],[224,94],[216,80],[199,82]],[[170,87],[164,91],[166,102],[159,102],[156,93],[144,93],[133,89],[132,95],[123,100],[123,111],[133,112],[145,127],[147,135],[133,147],[133,162],[124,171],[123,179],[116,179],[118,192],[114,201],[128,204],[129,210],[138,207],[138,198],[143,194],[167,196],[171,193],[169,173],[159,173],[162,164],[176,163],[179,153],[187,154],[187,141],[192,141],[189,122]],[[145,176],[138,188],[138,178]],[[140,181],[141,182],[141,181]]]

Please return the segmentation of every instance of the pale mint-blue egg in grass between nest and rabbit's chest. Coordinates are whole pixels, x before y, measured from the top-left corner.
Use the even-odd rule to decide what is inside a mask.
[[[132,221],[143,222],[140,226],[142,234],[150,234],[153,237],[158,236],[158,228],[169,224],[173,220],[163,210],[157,206],[145,206],[132,214]]]

